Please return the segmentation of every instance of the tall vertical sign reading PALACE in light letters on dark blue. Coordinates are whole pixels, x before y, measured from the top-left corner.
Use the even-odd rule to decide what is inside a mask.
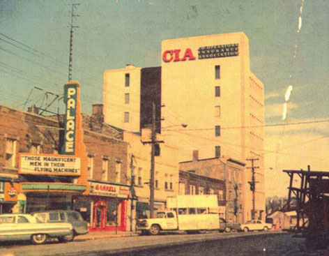
[[[75,130],[77,121],[77,84],[64,86],[64,102],[66,103],[64,143],[62,152],[65,155],[75,154]]]

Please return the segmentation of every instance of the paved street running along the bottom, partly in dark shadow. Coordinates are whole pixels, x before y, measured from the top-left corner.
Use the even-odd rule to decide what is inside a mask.
[[[265,250],[264,250],[265,249]],[[2,243],[0,256],[10,255],[328,255],[326,250],[305,251],[304,240],[278,232],[230,234],[163,234],[79,240],[72,243],[50,242],[43,246],[30,243]]]

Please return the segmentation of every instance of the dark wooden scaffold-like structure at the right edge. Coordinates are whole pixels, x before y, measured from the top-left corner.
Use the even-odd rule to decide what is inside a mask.
[[[296,211],[291,232],[317,241],[329,238],[329,172],[283,170],[289,175],[289,194],[284,211]],[[295,200],[293,200],[295,199]],[[292,204],[294,202],[294,204]]]

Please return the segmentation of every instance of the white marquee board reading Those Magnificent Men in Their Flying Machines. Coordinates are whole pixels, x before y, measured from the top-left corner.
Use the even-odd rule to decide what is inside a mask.
[[[63,155],[20,153],[20,174],[80,175],[80,158]]]

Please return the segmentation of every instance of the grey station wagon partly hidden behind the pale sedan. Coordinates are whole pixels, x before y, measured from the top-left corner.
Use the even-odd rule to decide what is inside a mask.
[[[75,236],[89,232],[87,223],[77,211],[70,210],[52,210],[39,211],[31,213],[42,223],[70,223],[73,226],[73,233],[70,236],[63,237],[64,241],[73,241]],[[61,239],[60,239],[61,240]]]

